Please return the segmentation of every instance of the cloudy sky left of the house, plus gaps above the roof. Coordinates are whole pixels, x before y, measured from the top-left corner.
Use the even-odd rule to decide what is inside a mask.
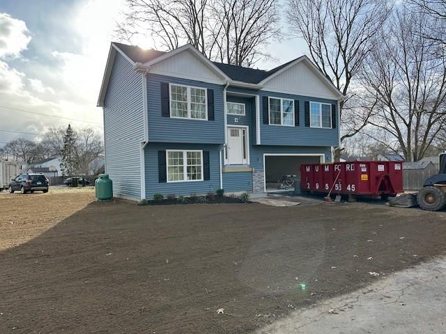
[[[0,1],[0,147],[20,136],[39,141],[47,128],[68,123],[102,135],[96,103],[124,9],[125,0]],[[275,61],[256,64],[265,70],[306,48],[282,38],[267,51]]]

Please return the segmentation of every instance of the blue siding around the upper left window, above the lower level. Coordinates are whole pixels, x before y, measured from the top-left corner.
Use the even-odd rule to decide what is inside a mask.
[[[190,120],[161,116],[161,83],[214,90],[215,120]],[[187,79],[147,75],[148,140],[157,143],[224,143],[223,86]]]

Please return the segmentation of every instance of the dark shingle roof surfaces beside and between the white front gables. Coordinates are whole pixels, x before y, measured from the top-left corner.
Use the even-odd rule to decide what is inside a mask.
[[[116,47],[118,47],[119,49],[121,49],[121,51],[123,51],[135,63],[146,63],[148,61],[152,61],[153,59],[167,53],[164,51],[157,51],[154,49],[144,50],[137,46],[125,45],[125,44],[117,43],[117,42],[113,42],[113,44],[116,45]],[[228,77],[230,77],[233,80],[243,81],[243,82],[247,82],[249,84],[259,84],[259,82],[262,81],[263,79],[266,79],[270,75],[281,70],[282,68],[286,67],[290,63],[293,63],[293,61],[295,61],[297,59],[298,58],[295,58],[292,61],[289,61],[288,63],[284,63],[280,66],[277,66],[269,71],[258,70],[258,69],[251,68],[251,67],[217,63],[215,61],[213,61],[213,63],[222,72],[224,72],[224,74],[226,74]]]

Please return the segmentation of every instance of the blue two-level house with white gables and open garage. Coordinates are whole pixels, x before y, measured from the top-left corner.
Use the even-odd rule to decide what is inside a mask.
[[[307,56],[264,71],[113,42],[98,106],[114,196],[274,189],[332,160],[343,98]]]

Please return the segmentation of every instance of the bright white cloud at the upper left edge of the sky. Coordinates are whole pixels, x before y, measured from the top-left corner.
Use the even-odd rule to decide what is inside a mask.
[[[28,46],[31,36],[25,22],[0,13],[0,58],[18,57]]]

